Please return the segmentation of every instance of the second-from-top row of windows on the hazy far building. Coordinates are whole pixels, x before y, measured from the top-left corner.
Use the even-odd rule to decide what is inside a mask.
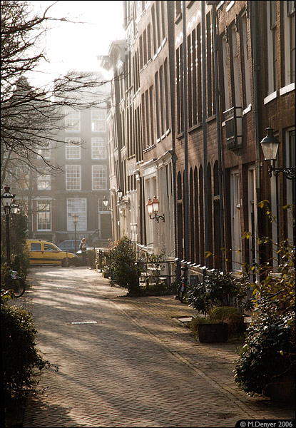
[[[65,158],[66,159],[81,159],[81,138],[68,137],[65,138]],[[51,158],[50,143],[46,147],[39,149],[39,155],[44,159]],[[92,159],[106,159],[107,148],[106,139],[103,137],[91,138],[91,158]]]

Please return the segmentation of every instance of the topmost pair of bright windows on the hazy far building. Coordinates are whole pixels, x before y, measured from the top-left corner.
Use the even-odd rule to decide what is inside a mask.
[[[81,114],[79,110],[65,110],[65,131],[80,132],[81,130]],[[106,111],[92,110],[91,111],[91,131],[106,132]]]

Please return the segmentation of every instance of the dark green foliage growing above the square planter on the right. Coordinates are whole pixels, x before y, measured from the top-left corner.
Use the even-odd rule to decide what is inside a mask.
[[[190,287],[187,300],[195,310],[208,314],[215,306],[237,306],[247,295],[249,283],[219,270],[210,272],[203,283]]]

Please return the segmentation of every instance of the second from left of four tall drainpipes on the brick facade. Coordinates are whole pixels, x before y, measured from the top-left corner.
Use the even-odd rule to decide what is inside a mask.
[[[185,3],[183,1],[183,3]],[[201,1],[201,46],[202,46],[202,75],[203,75],[203,198],[205,225],[205,252],[208,251],[208,168],[207,168],[207,134],[205,130],[206,115],[206,75],[205,75],[205,1]],[[200,237],[202,238],[202,237]],[[207,265],[207,259],[205,259]]]

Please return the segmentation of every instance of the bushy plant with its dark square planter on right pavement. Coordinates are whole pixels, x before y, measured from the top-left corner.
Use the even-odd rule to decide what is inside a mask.
[[[190,287],[189,305],[205,315],[193,320],[200,342],[226,342],[228,332],[233,332],[236,324],[242,325],[243,317],[237,306],[245,297],[247,287],[247,281],[223,275],[219,270],[210,272],[203,283]]]

